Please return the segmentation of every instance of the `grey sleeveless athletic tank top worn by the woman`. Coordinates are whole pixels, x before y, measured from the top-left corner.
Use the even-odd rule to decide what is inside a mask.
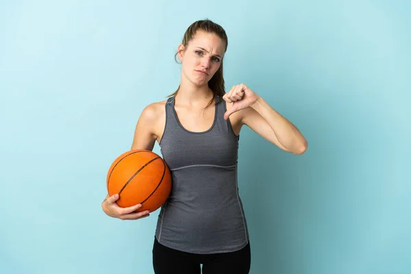
[[[216,103],[214,122],[205,132],[190,132],[179,123],[174,97],[165,108],[160,148],[173,187],[160,208],[155,237],[166,247],[190,253],[245,247],[249,234],[238,195],[238,136],[224,120],[225,101]]]

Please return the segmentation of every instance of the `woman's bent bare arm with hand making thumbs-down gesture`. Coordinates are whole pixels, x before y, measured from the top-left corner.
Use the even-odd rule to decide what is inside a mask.
[[[240,123],[280,149],[294,154],[306,151],[308,142],[299,129],[244,84],[234,86],[223,99],[232,103],[231,108],[227,108],[225,119],[238,112]]]

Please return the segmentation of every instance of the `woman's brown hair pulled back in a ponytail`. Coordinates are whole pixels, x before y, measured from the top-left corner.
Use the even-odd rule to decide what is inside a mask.
[[[227,46],[228,46],[228,39],[227,39],[227,34],[225,34],[225,30],[221,25],[216,24],[208,19],[205,20],[200,20],[192,23],[190,27],[186,30],[186,33],[184,34],[182,44],[186,48],[188,45],[188,42],[192,40],[192,38],[195,37],[195,34],[197,34],[197,31],[203,31],[207,32],[210,34],[216,34],[225,42],[225,51],[227,51]],[[174,58],[177,58],[177,53],[175,53]],[[175,59],[177,62],[177,59]],[[213,97],[210,100],[210,103],[208,103],[207,107],[214,101],[214,99],[218,96],[219,97],[219,102],[221,102],[221,99],[225,95],[225,86],[224,86],[224,77],[223,77],[223,60],[221,60],[219,70],[214,73],[213,77],[210,79],[208,82],[208,87],[212,90]],[[180,86],[178,86],[177,90],[169,97],[177,95],[177,92],[179,90]],[[207,108],[206,107],[206,108]]]

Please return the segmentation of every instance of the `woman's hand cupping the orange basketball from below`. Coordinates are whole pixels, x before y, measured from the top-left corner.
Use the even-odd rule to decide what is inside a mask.
[[[142,212],[136,212],[136,210],[142,207],[140,203],[135,206],[130,206],[128,208],[121,208],[116,203],[119,197],[120,197],[119,194],[115,194],[103,202],[103,204],[101,205],[101,208],[103,208],[103,211],[105,212],[105,214],[107,214],[108,216],[114,217],[114,218],[121,219],[121,220],[137,220],[137,219],[145,218],[150,215],[149,210],[145,210]]]

